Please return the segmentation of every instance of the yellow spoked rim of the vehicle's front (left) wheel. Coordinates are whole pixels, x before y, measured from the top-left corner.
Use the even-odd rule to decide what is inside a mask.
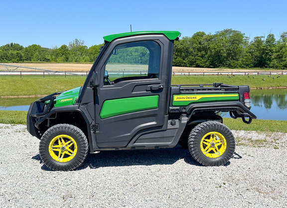
[[[58,162],[68,162],[77,154],[77,143],[68,135],[58,135],[51,140],[49,153],[50,156]]]

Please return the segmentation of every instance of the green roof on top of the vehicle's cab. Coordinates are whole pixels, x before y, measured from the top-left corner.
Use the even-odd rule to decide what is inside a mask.
[[[104,40],[111,42],[112,40],[119,37],[126,37],[131,35],[143,35],[143,34],[164,34],[169,40],[174,40],[180,35],[178,31],[141,31],[141,32],[126,32],[115,35],[104,36]]]

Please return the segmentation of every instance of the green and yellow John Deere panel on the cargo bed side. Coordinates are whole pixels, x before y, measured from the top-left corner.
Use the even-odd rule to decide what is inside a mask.
[[[238,94],[184,94],[173,95],[172,106],[188,106],[194,103],[238,101]]]

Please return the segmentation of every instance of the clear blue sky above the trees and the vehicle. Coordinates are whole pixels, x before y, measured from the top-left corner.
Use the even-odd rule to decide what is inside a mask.
[[[252,40],[287,32],[287,0],[0,0],[0,46],[46,48],[104,42],[103,36],[150,30],[214,34],[227,28]]]

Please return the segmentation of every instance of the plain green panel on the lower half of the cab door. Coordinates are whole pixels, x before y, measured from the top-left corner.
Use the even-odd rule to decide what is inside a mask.
[[[105,101],[100,113],[101,118],[122,115],[130,112],[138,112],[158,108],[159,96],[145,96],[123,98]]]

